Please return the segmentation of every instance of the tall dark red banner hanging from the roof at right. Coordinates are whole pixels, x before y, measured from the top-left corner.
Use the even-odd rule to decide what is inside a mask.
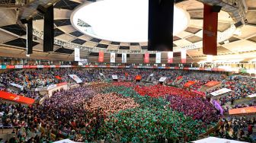
[[[212,12],[213,6],[203,6],[203,54],[217,55],[218,12]]]

